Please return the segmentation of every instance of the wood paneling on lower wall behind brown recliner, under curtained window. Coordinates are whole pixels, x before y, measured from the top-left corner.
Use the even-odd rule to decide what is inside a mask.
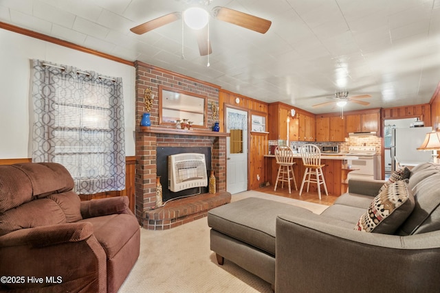
[[[0,165],[11,165],[18,163],[30,163],[29,158],[23,159],[0,159]],[[112,198],[114,196],[128,196],[130,209],[135,212],[135,156],[126,156],[125,189],[120,191],[107,191],[99,194],[80,194],[81,200],[94,200],[97,198]]]

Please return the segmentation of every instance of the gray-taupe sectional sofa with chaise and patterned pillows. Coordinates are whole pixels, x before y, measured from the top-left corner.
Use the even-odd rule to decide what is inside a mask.
[[[438,292],[440,166],[350,180],[320,215],[247,198],[208,213],[210,248],[275,292]]]

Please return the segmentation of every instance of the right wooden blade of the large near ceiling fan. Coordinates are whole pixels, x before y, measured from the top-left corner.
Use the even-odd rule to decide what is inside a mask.
[[[267,19],[261,19],[260,17],[225,7],[214,7],[212,12],[214,17],[220,21],[239,25],[261,34],[265,34],[265,32],[269,30],[270,25],[272,25],[272,21],[268,21]]]

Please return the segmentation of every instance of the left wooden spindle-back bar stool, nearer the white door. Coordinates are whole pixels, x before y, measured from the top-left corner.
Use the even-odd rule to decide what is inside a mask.
[[[278,174],[276,175],[276,183],[274,191],[276,191],[276,186],[278,181],[281,181],[281,187],[284,188],[284,183],[287,182],[289,185],[290,194],[290,180],[294,180],[295,190],[298,190],[296,186],[295,174],[294,174],[294,152],[287,145],[278,145],[275,149],[276,163],[278,164]],[[292,174],[292,176],[291,176]]]

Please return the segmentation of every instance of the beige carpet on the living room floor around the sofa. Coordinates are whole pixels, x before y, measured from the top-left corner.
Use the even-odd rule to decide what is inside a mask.
[[[232,201],[250,196],[294,204],[321,213],[327,206],[258,191],[234,194]],[[119,292],[272,292],[269,283],[225,259],[217,264],[209,248],[207,218],[166,231],[141,229],[140,257]]]

